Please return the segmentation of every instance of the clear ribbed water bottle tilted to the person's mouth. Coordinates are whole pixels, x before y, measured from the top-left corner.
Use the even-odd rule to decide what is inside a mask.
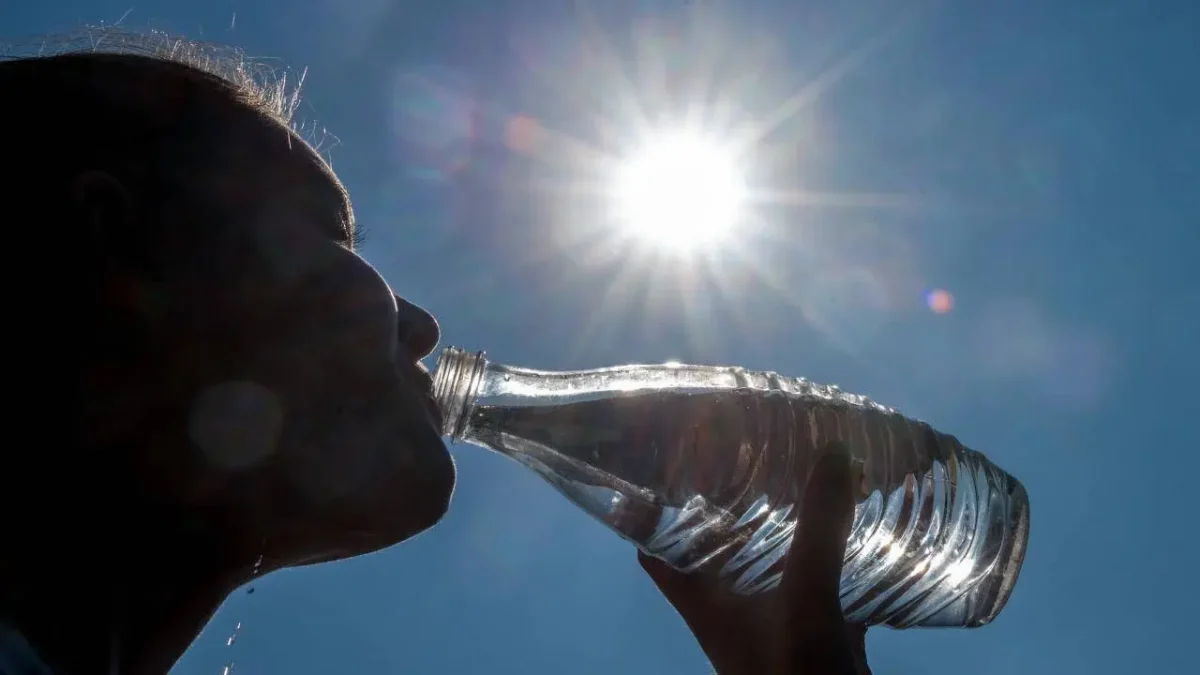
[[[682,364],[546,372],[448,347],[434,374],[444,434],[532,468],[649,555],[774,589],[808,470],[827,442],[860,462],[847,620],[983,626],[1028,539],[1025,488],[923,422],[836,387]]]

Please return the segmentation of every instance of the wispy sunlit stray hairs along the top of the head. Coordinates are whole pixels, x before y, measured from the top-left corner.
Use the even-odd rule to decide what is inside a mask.
[[[144,56],[186,66],[223,80],[259,113],[293,129],[296,126],[295,113],[306,71],[293,73],[266,59],[250,58],[236,47],[158,30],[88,26],[77,32],[0,44],[0,67],[18,60],[84,54]]]

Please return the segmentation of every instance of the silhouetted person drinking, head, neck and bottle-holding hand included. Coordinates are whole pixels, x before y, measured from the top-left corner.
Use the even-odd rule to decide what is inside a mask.
[[[214,47],[106,40],[0,61],[10,250],[54,261],[6,265],[10,429],[36,425],[0,465],[10,675],[163,674],[254,574],[403,542],[455,489],[438,324],[355,253],[294,96]],[[868,671],[848,467],[815,470],[779,593],[641,558],[719,673]]]

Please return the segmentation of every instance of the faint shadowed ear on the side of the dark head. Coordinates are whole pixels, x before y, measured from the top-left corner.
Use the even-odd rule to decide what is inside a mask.
[[[97,262],[144,281],[160,279],[154,232],[120,179],[103,171],[85,171],[71,183],[71,202]]]

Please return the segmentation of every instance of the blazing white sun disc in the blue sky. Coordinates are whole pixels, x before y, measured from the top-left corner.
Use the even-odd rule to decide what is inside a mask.
[[[690,251],[733,229],[744,190],[732,153],[713,139],[674,133],[648,143],[622,165],[617,211],[622,226],[638,239]]]

